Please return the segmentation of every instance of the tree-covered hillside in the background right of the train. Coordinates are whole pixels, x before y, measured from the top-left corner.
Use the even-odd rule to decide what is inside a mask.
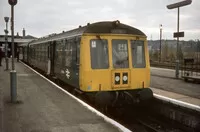
[[[176,40],[161,41],[161,61],[174,62],[177,51]],[[160,40],[148,40],[151,61],[158,61],[160,53]],[[200,40],[179,41],[179,58],[200,59]]]

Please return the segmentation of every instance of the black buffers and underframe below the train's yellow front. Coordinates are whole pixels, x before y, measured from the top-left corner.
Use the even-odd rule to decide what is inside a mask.
[[[147,102],[153,98],[149,88],[137,90],[99,91],[86,93],[87,97],[99,107],[121,107]]]

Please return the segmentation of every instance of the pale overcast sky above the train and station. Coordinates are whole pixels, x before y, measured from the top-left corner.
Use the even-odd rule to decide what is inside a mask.
[[[4,16],[10,16],[8,0],[0,0],[0,34],[4,34]],[[18,0],[15,6],[15,34],[35,37],[71,30],[88,22],[119,20],[142,30],[148,39],[173,39],[177,31],[177,9],[166,5],[181,0]],[[200,0],[180,8],[180,31],[184,40],[200,39]],[[10,23],[9,23],[10,24]],[[9,26],[10,29],[10,26]],[[10,31],[9,31],[10,33]]]

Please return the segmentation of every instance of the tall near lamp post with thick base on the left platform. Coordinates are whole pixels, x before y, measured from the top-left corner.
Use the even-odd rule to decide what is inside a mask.
[[[11,34],[12,34],[12,70],[10,71],[10,95],[11,102],[17,102],[17,72],[15,70],[15,45],[14,45],[14,6],[17,4],[17,0],[8,0],[11,5]]]

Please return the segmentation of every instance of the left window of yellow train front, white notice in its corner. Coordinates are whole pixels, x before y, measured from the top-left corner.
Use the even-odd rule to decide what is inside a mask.
[[[90,41],[90,56],[92,69],[109,68],[108,41],[105,39],[93,39]]]

